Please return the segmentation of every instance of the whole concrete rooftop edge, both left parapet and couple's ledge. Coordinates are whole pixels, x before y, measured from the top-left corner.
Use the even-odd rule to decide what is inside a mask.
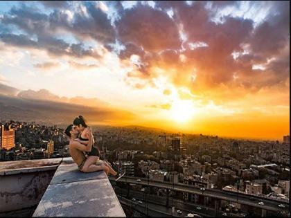
[[[0,175],[0,216],[36,206],[33,217],[125,217],[105,172],[82,173],[71,158],[1,162]]]

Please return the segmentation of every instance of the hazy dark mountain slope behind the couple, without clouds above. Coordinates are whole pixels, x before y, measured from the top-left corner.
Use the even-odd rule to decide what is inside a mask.
[[[30,95],[31,92],[28,94]],[[114,125],[114,122],[130,123],[130,120],[135,117],[133,113],[109,107],[88,107],[51,100],[0,95],[0,120],[2,121],[21,120],[67,125],[79,115],[84,116],[89,125]]]

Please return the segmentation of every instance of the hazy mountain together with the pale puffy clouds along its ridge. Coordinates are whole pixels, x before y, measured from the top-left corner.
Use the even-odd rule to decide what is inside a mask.
[[[129,124],[135,115],[115,109],[98,98],[59,97],[46,89],[39,91],[15,89],[0,83],[0,121],[67,125],[82,115],[90,125]]]

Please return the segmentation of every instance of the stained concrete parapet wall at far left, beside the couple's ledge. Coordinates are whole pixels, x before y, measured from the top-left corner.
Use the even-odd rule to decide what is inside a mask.
[[[0,216],[37,206],[62,158],[0,162]]]

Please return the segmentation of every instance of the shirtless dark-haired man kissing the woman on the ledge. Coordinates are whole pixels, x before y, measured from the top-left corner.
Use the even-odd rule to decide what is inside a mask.
[[[85,157],[84,152],[90,152],[93,145],[93,135],[91,130],[87,132],[87,138],[89,139],[88,145],[82,145],[75,139],[78,138],[78,129],[73,125],[69,125],[64,131],[64,134],[69,137],[69,151],[73,161],[78,165],[78,168],[81,172],[96,172],[104,170],[108,175],[109,167],[105,163],[101,162],[99,165],[87,163],[88,160]]]

